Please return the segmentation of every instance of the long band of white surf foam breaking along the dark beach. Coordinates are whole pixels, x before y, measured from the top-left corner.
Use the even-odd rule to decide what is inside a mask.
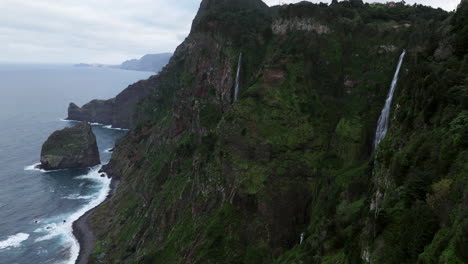
[[[89,210],[101,204],[109,194],[111,179],[107,177],[101,177],[101,174],[103,174],[99,172],[101,167],[102,166],[94,167],[88,174],[77,177],[77,179],[87,179],[96,182],[101,187],[97,195],[92,196],[89,199],[90,201],[78,211],[63,217],[55,217],[55,219],[51,219],[51,221],[49,221],[49,223],[47,223],[45,226],[42,226],[34,231],[36,233],[46,233],[44,236],[37,238],[35,240],[36,242],[49,240],[57,236],[62,236],[65,241],[68,242],[67,246],[70,247],[70,258],[65,262],[66,264],[74,264],[80,252],[80,244],[73,235],[73,222],[78,220],[78,218],[80,218]]]

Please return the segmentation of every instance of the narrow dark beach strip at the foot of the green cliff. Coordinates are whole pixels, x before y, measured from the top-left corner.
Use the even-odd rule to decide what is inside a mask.
[[[105,170],[105,166],[102,169]],[[112,195],[114,195],[115,191],[117,190],[117,186],[119,185],[120,180],[115,177],[111,177],[108,173],[107,177],[111,178],[110,184],[110,191],[107,194],[106,199],[97,207],[89,210],[84,215],[82,215],[78,220],[73,222],[72,229],[73,229],[73,236],[75,236],[76,240],[80,244],[80,252],[78,254],[78,258],[75,261],[75,264],[86,264],[88,263],[89,256],[93,252],[94,245],[96,243],[96,238],[94,236],[93,230],[88,224],[89,217],[94,213],[96,208],[101,206],[103,203],[107,202]]]

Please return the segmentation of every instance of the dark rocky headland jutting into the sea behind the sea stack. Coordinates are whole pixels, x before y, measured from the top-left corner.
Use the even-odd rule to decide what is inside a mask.
[[[67,120],[130,128],[137,104],[155,87],[156,79],[157,76],[153,76],[144,82],[132,84],[109,100],[93,100],[82,107],[70,103]]]

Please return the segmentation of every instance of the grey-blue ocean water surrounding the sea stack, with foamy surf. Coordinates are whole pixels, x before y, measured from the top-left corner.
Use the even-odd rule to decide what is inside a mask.
[[[79,245],[71,225],[101,203],[110,180],[100,166],[34,169],[41,146],[70,102],[115,96],[152,73],[70,65],[0,64],[0,264],[74,263]],[[102,163],[126,131],[94,125]]]

